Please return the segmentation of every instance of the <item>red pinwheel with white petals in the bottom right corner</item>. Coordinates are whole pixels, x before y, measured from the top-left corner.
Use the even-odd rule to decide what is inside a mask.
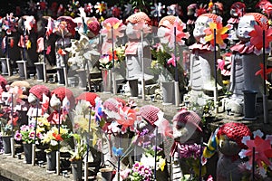
[[[259,131],[260,132],[260,131]],[[260,137],[261,135],[255,135],[254,139],[250,139],[248,137],[244,137],[242,142],[248,146],[248,149],[241,150],[239,153],[240,157],[249,157],[248,164],[251,167],[252,159],[253,159],[253,148],[255,148],[255,161],[257,162],[257,166],[259,168],[263,168],[264,164],[268,167],[272,167],[272,162],[269,158],[272,157],[272,148],[270,144],[270,139],[263,139]]]

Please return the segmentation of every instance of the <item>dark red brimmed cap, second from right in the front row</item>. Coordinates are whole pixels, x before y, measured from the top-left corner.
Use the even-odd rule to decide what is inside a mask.
[[[183,122],[184,124],[191,124],[199,131],[202,131],[202,129],[199,127],[199,123],[201,122],[201,119],[197,113],[191,110],[180,110],[178,114],[176,114],[172,121],[179,121]]]

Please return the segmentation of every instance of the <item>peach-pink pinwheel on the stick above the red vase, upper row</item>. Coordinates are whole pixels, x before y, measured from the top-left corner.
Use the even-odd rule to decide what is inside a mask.
[[[107,21],[109,20],[109,21]],[[121,20],[118,20],[117,18],[112,18],[110,20],[107,19],[104,22],[102,22],[102,35],[105,36],[106,39],[112,39],[113,41],[117,41],[117,37],[122,37],[124,35],[123,31],[125,30],[125,25],[122,24]],[[113,31],[112,31],[113,29]],[[112,34],[113,32],[113,34]],[[112,37],[113,36],[113,37]]]

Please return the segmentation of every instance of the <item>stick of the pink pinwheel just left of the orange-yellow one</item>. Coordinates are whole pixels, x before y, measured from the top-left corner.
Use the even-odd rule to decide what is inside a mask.
[[[180,89],[178,77],[178,62],[177,62],[177,27],[174,27],[174,54],[175,54],[175,104],[180,106]]]

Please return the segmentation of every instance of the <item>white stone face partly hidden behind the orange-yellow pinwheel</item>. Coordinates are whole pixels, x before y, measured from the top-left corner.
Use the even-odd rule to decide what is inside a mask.
[[[195,23],[195,29],[193,35],[197,42],[200,41],[201,37],[205,36],[204,30],[209,27],[209,17],[207,16],[199,16]]]

